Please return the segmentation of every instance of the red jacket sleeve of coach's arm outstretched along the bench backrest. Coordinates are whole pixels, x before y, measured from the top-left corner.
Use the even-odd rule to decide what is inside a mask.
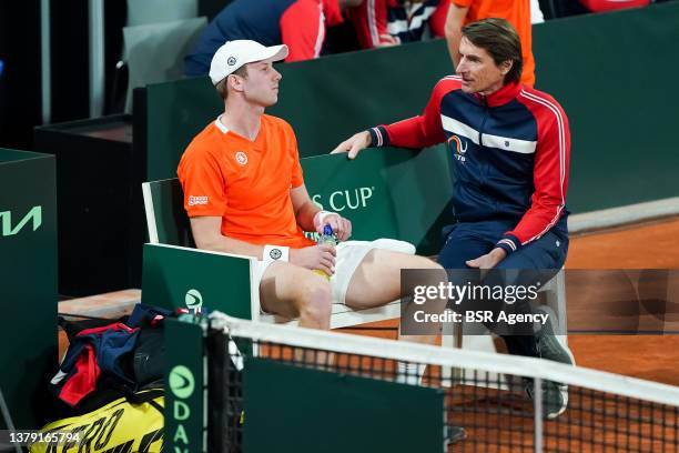
[[[440,122],[440,100],[454,87],[453,81],[442,79],[427,102],[422,114],[389,125],[378,125],[369,130],[373,147],[425,148],[446,140]]]

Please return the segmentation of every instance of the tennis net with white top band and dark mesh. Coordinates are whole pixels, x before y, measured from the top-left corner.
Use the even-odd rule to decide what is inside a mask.
[[[433,389],[443,401],[442,413],[435,414],[444,421],[437,451],[679,452],[679,387],[537,359],[262,324],[221,313],[211,315],[211,332],[210,451],[247,453],[249,435],[267,435],[268,422],[246,404],[257,396],[249,393],[255,391],[247,384],[249,363],[264,361],[311,370],[318,382],[336,375],[385,383],[389,391]],[[280,384],[274,373],[267,379]],[[550,391],[566,387],[567,409],[553,417],[558,411]],[[267,397],[272,406],[280,403]],[[310,421],[318,416],[313,404],[304,407]],[[306,423],[304,416],[290,423]],[[377,430],[382,436],[409,435]],[[366,449],[352,451],[375,451]]]

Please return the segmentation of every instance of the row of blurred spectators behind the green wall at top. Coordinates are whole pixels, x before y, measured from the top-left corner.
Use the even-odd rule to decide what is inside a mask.
[[[651,0],[233,0],[201,33],[185,58],[186,76],[204,76],[225,41],[252,39],[287,44],[285,61],[398,46],[445,37],[453,63],[459,30],[488,17],[507,19],[519,32],[525,78],[534,83],[531,24],[587,12],[648,6]]]

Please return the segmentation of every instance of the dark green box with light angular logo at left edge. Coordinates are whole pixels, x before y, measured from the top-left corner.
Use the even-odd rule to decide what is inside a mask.
[[[0,149],[0,390],[17,429],[44,422],[57,371],[55,178],[53,155]]]

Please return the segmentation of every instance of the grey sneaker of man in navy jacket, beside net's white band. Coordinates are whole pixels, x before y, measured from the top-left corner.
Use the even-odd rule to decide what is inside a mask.
[[[575,365],[575,358],[568,349],[555,336],[553,322],[557,316],[549,306],[538,306],[536,313],[547,314],[547,322],[536,333],[538,354],[540,359],[551,360],[567,365]],[[526,392],[533,400],[535,384],[530,379],[524,380]],[[568,406],[568,385],[554,381],[543,381],[543,415],[546,419],[556,419],[561,415]]]

